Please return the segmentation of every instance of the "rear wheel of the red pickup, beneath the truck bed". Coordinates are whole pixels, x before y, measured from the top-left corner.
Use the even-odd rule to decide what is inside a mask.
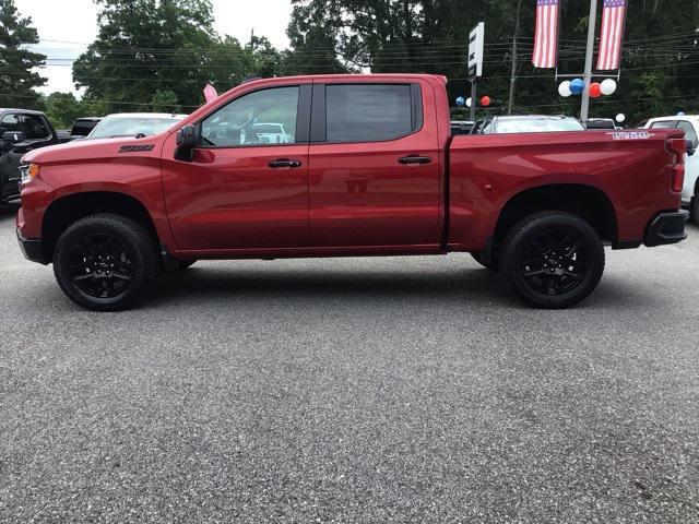
[[[526,302],[547,309],[587,298],[602,278],[604,261],[604,246],[592,226],[562,212],[523,218],[500,250],[500,272],[510,287]]]

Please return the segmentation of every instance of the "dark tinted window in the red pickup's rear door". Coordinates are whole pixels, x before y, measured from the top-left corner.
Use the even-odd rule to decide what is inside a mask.
[[[422,124],[411,92],[410,84],[328,85],[328,142],[381,142],[411,134]]]

